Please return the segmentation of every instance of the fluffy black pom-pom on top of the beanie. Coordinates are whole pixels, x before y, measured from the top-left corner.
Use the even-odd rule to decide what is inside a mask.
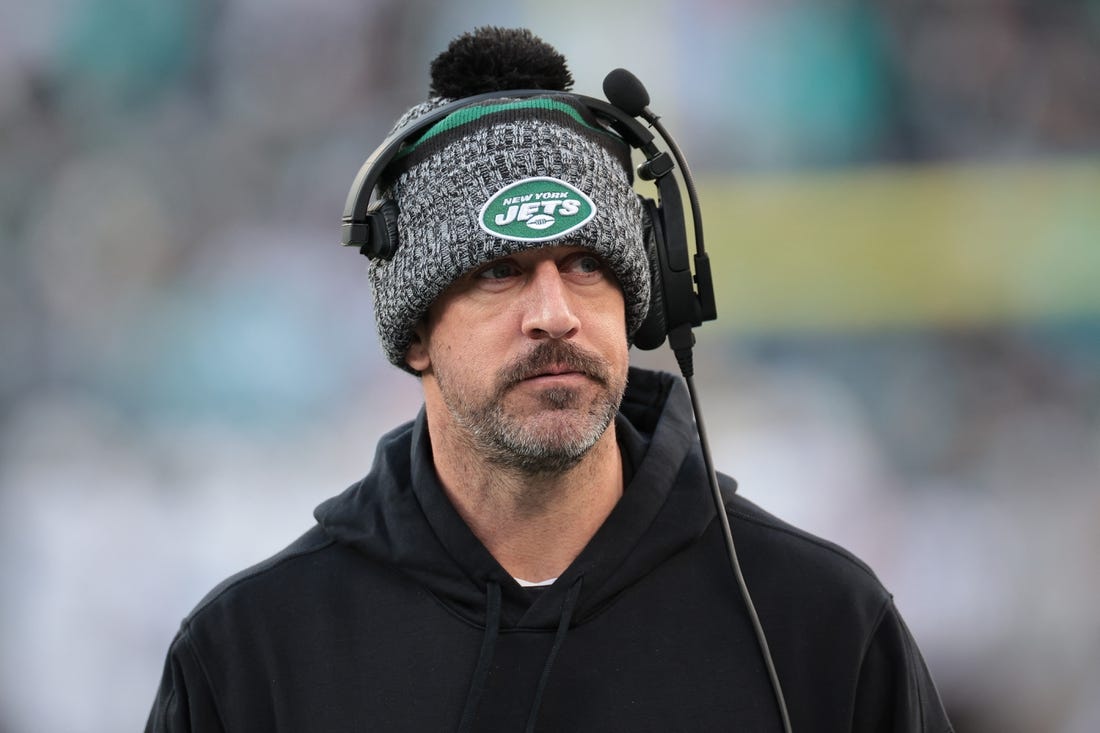
[[[565,57],[527,29],[486,25],[465,33],[431,63],[433,97],[461,99],[505,89],[569,91]]]

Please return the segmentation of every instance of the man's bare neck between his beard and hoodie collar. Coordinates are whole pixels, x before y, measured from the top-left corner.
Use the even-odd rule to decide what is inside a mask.
[[[488,462],[454,435],[429,436],[443,491],[474,535],[515,578],[557,578],[580,555],[623,494],[612,423],[574,467],[529,474]]]

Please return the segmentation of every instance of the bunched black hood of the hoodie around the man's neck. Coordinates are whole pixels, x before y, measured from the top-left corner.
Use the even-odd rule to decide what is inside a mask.
[[[632,478],[585,549],[534,602],[447,499],[424,409],[385,435],[371,472],[315,515],[329,537],[410,576],[474,624],[485,623],[492,586],[503,628],[554,628],[566,601],[573,624],[582,624],[694,543],[715,516],[681,379],[631,369],[616,433]]]

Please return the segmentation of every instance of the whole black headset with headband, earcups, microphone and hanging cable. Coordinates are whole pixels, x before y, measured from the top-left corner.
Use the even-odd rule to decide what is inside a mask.
[[[609,101],[548,89],[492,91],[449,102],[418,117],[386,138],[360,167],[344,204],[342,243],[345,247],[358,247],[362,254],[372,260],[393,258],[399,247],[397,204],[384,198],[378,190],[380,185],[385,182],[387,168],[406,145],[418,140],[437,122],[458,109],[483,101],[540,96],[565,97],[585,107],[596,121],[604,125],[605,131],[615,133],[631,149],[638,150],[645,155],[645,161],[638,166],[638,177],[656,184],[658,198],[654,201],[651,198],[639,196],[646,215],[644,220],[648,227],[645,239],[652,286],[649,313],[634,336],[634,346],[651,350],[660,347],[668,339],[684,381],[688,383],[692,408],[695,413],[695,426],[703,448],[703,459],[710,477],[711,493],[725,535],[726,551],[757,636],[783,730],[790,733],[791,723],[783,691],[771,658],[768,641],[745,583],[740,562],[737,559],[737,550],[718,489],[717,474],[711,458],[706,428],[703,424],[698,396],[695,391],[694,365],[692,363],[692,347],[695,344],[695,337],[692,329],[701,326],[703,321],[714,320],[717,317],[717,311],[710,258],[703,247],[703,220],[694,180],[680,147],[661,124],[660,118],[649,110],[649,92],[634,74],[623,68],[613,70],[604,79],[603,90]],[[656,136],[649,128],[639,122],[637,119],[639,117],[658,132],[668,151],[658,147]],[[680,196],[680,184],[673,175],[673,171],[678,166],[691,205],[692,230],[695,241],[694,254],[689,250],[688,227]],[[692,274],[693,266],[694,275]]]

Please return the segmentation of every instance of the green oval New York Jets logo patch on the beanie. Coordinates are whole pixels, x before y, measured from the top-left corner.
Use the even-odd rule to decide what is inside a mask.
[[[596,205],[564,180],[524,178],[509,184],[482,207],[481,228],[494,237],[541,242],[566,234],[596,216]]]

